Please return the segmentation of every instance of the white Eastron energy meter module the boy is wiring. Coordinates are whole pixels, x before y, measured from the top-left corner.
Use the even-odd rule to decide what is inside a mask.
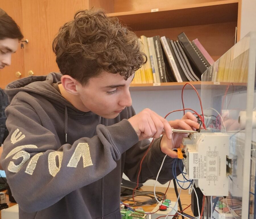
[[[229,135],[224,133],[193,133],[183,138],[181,150],[189,179],[195,181],[206,196],[228,196],[231,161]]]

